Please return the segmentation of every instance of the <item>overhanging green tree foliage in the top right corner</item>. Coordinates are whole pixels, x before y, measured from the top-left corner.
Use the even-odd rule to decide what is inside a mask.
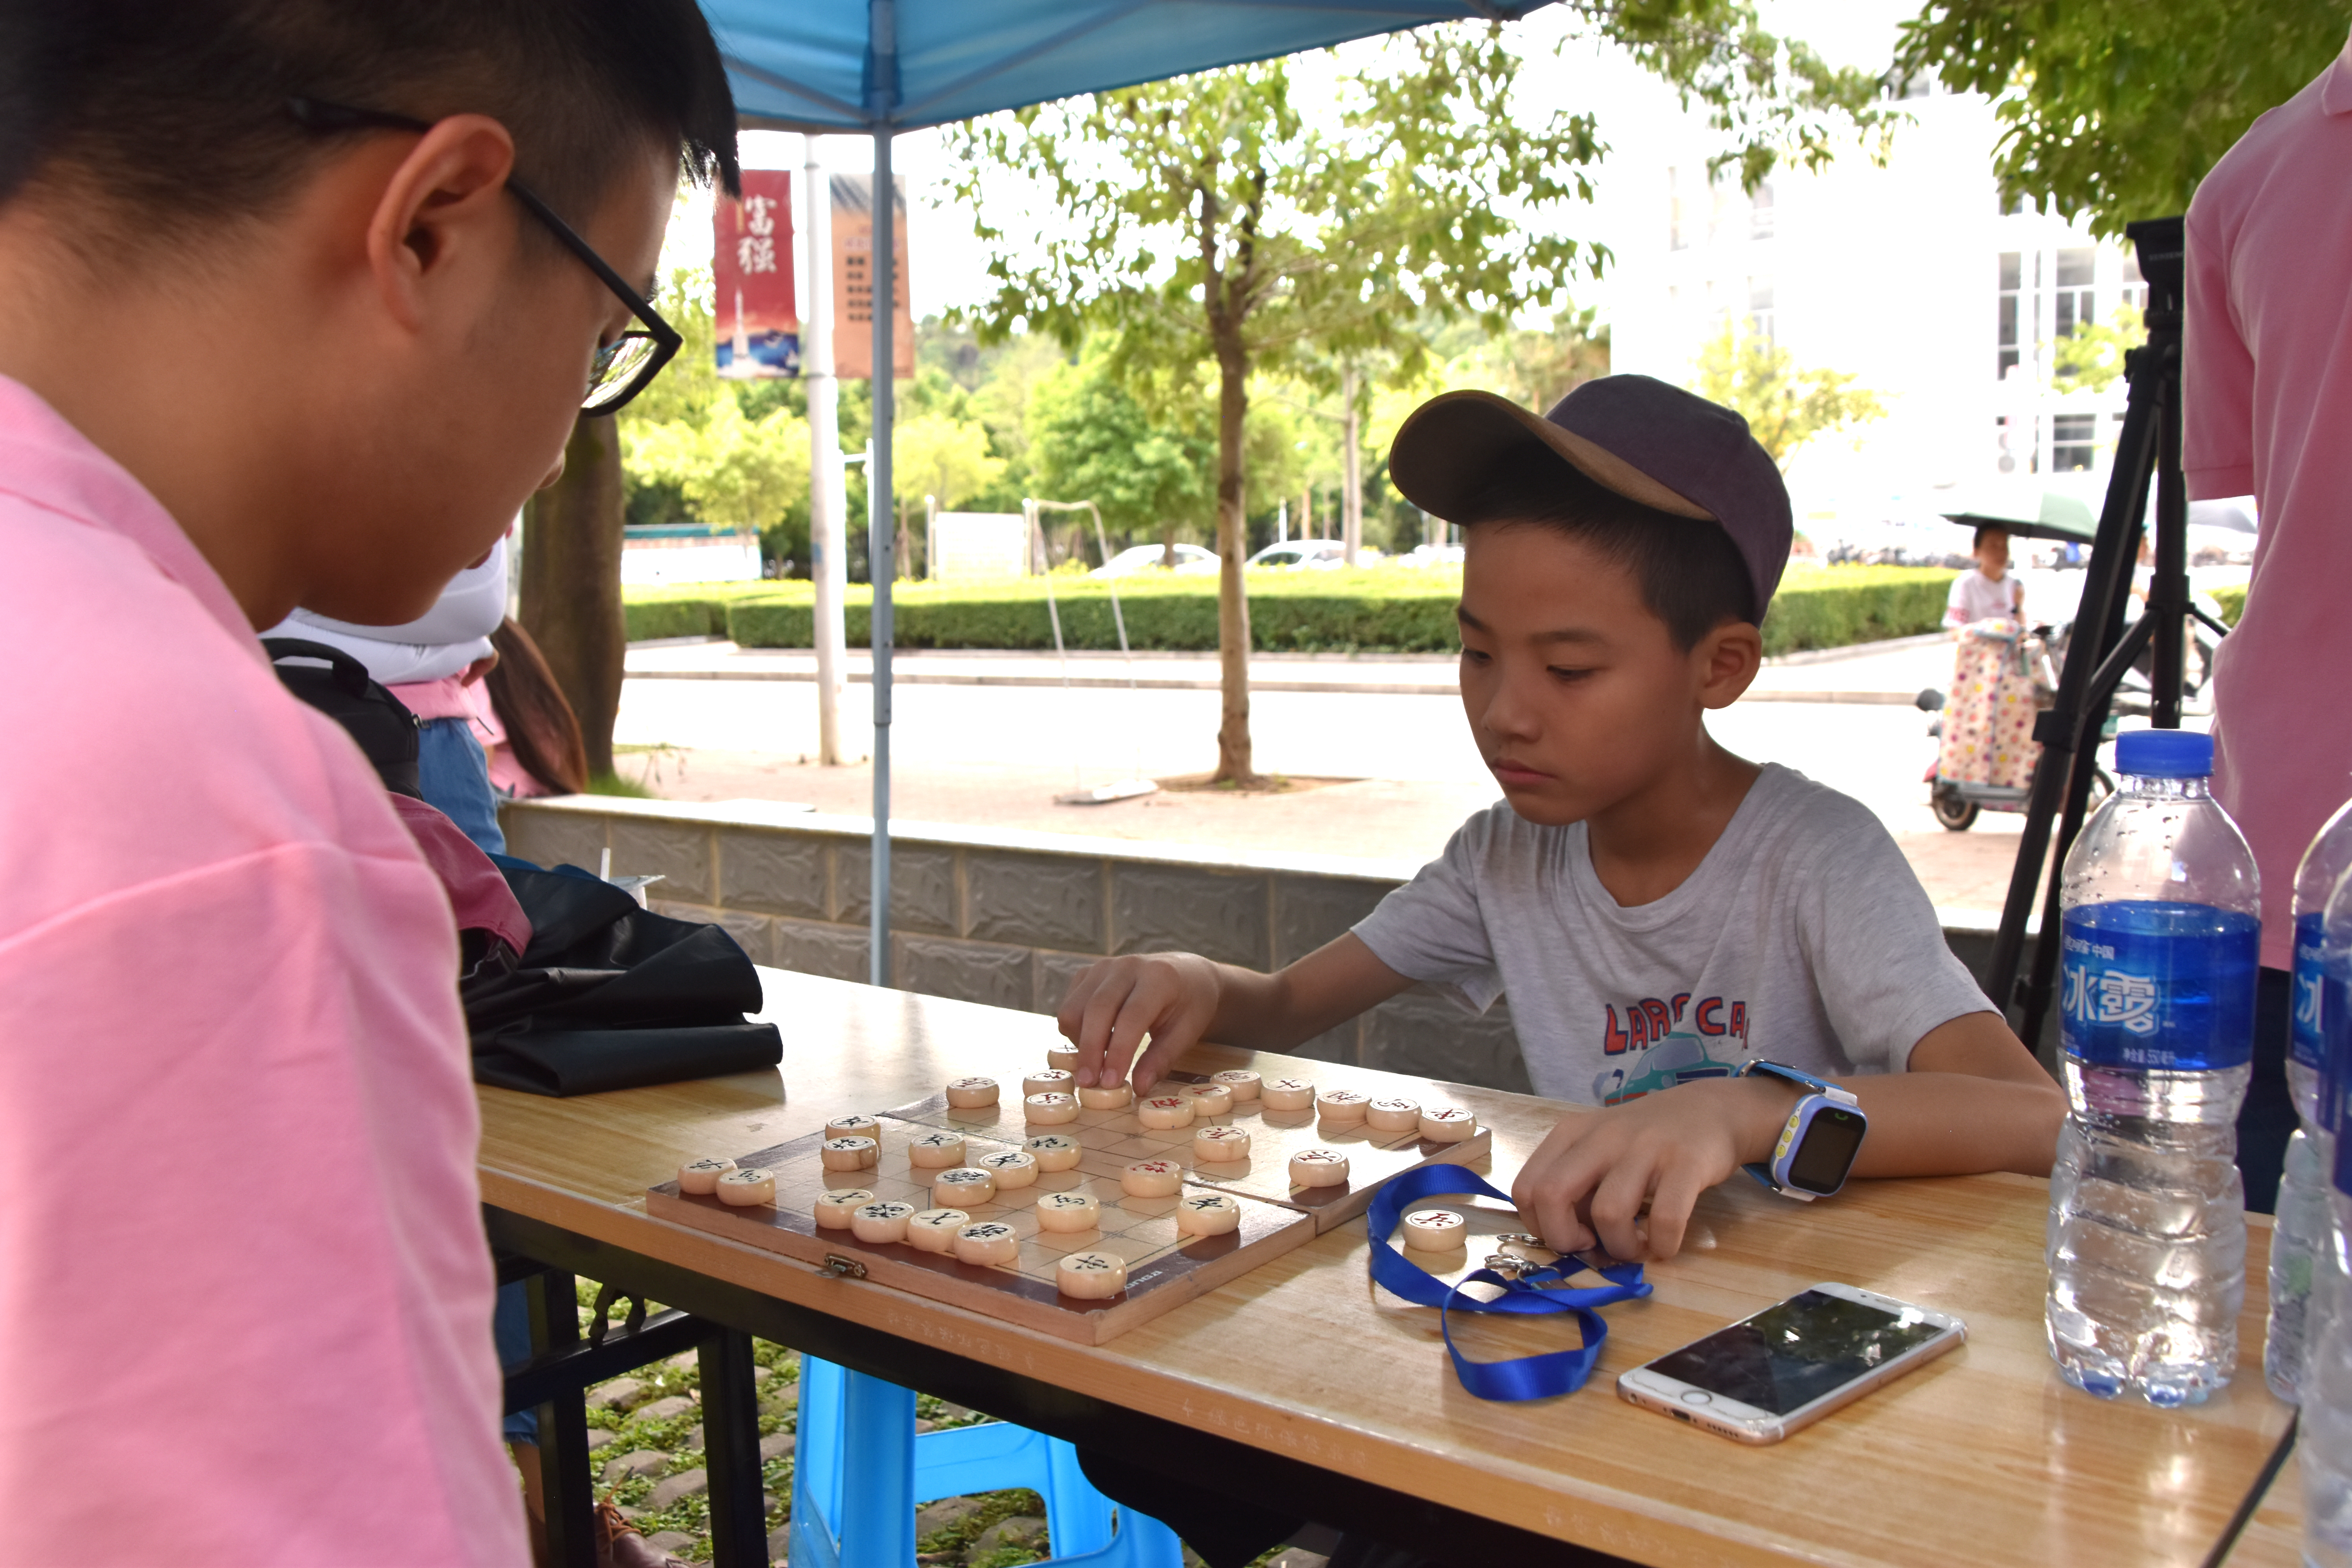
[[[2185,212],[2253,118],[2343,42],[2340,0],[1931,0],[1903,24],[1893,73],[1994,101],[2004,200],[2119,235]]]

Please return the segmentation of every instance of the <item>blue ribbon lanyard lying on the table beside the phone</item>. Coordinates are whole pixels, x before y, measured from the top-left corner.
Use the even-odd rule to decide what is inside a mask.
[[[1461,1166],[1421,1166],[1418,1171],[1406,1171],[1397,1180],[1381,1187],[1381,1192],[1371,1199],[1371,1211],[1364,1215],[1371,1227],[1371,1284],[1392,1295],[1402,1295],[1416,1307],[1437,1307],[1437,1328],[1446,1338],[1446,1354],[1454,1356],[1454,1375],[1461,1378],[1463,1387],[1479,1399],[1550,1399],[1552,1394],[1573,1394],[1585,1387],[1585,1378],[1592,1375],[1592,1366],[1599,1361],[1602,1342],[1609,1338],[1609,1324],[1602,1321],[1602,1314],[1595,1312],[1595,1307],[1609,1307],[1613,1302],[1649,1295],[1649,1284],[1642,1279],[1642,1265],[1618,1262],[1599,1269],[1602,1279],[1609,1284],[1583,1291],[1541,1288],[1548,1281],[1559,1281],[1576,1272],[1573,1265],[1562,1269],[1557,1262],[1515,1274],[1475,1269],[1472,1274],[1465,1274],[1461,1284],[1446,1286],[1421,1267],[1406,1262],[1390,1244],[1390,1237],[1397,1232],[1397,1220],[1404,1218],[1406,1204],[1425,1197],[1463,1192],[1503,1199],[1505,1204],[1510,1201],[1508,1194],[1496,1192]],[[1461,1293],[1468,1284],[1503,1286],[1503,1295],[1491,1302],[1482,1302],[1475,1295]],[[1454,1347],[1454,1328],[1446,1319],[1456,1307],[1463,1312],[1573,1312],[1585,1342],[1576,1349],[1555,1349],[1541,1356],[1472,1361]]]

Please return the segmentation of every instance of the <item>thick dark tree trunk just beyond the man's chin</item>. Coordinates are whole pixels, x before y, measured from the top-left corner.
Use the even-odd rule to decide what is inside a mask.
[[[564,447],[564,477],[524,512],[522,625],[579,715],[590,778],[612,773],[621,712],[621,433],[612,416],[581,418]]]

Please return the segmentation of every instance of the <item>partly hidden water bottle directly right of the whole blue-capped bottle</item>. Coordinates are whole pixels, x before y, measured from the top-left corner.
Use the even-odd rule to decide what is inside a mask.
[[[2328,896],[2352,865],[2352,802],[2336,809],[2296,867],[2296,1011],[2288,1025],[2286,1086],[2303,1124],[2286,1140],[2279,1178],[2279,1213],[2270,1232],[2270,1326],[2263,1335],[2263,1380],[2288,1403],[2300,1401],[2305,1345],[2319,1321],[2314,1279],[2328,1262],[2328,1180],[2336,1166],[2333,1093],[2321,1093],[2326,1027],[2333,1004],[2343,1011],[2343,983],[2326,978],[2324,943]],[[2317,1272],[2314,1272],[2317,1269]]]

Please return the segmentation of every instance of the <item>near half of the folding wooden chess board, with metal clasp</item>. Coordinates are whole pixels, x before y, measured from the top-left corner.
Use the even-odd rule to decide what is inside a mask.
[[[1016,1077],[1014,1088],[1018,1086]],[[1120,1171],[1143,1154],[1108,1157],[1089,1147],[1077,1168],[1040,1171],[1033,1187],[1000,1190],[988,1204],[957,1204],[974,1220],[1011,1225],[1021,1234],[1016,1262],[983,1267],[957,1262],[953,1253],[924,1253],[903,1241],[858,1241],[847,1229],[816,1225],[811,1208],[821,1192],[866,1187],[875,1201],[934,1206],[929,1178],[936,1171],[915,1171],[906,1154],[910,1138],[934,1128],[896,1114],[882,1114],[877,1121],[880,1159],[870,1171],[826,1171],[816,1152],[826,1140],[821,1131],[734,1157],[739,1166],[776,1173],[774,1208],[729,1208],[715,1197],[682,1194],[677,1182],[663,1182],[647,1192],[644,1211],[804,1262],[826,1265],[842,1258],[863,1267],[866,1279],[877,1284],[1082,1345],[1101,1345],[1315,1237],[1315,1222],[1308,1215],[1249,1197],[1242,1197],[1237,1229],[1223,1237],[1178,1237],[1176,1204],[1183,1194],[1127,1197],[1120,1190]],[[988,1138],[971,1128],[960,1131],[967,1133],[964,1164],[997,1150],[1021,1147],[1018,1135]],[[1190,1145],[1185,1147],[1190,1152]],[[1047,1192],[1091,1192],[1103,1206],[1101,1227],[1087,1232],[1040,1229],[1035,1204]],[[1127,1260],[1127,1291],[1098,1302],[1063,1295],[1054,1284],[1054,1269],[1065,1253],[1117,1253]]]

